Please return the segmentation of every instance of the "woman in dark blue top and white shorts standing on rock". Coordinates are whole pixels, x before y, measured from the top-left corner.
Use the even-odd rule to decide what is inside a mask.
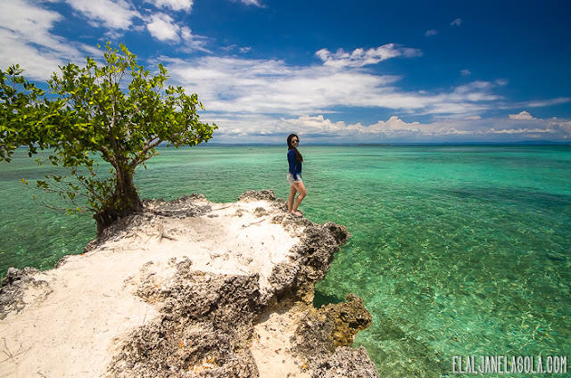
[[[297,210],[307,195],[305,185],[302,181],[302,154],[297,151],[300,144],[299,136],[290,134],[287,136],[287,162],[289,163],[289,171],[287,172],[287,182],[289,183],[289,197],[287,198],[287,211],[294,217],[303,217],[303,213]],[[295,193],[300,193],[295,199]]]

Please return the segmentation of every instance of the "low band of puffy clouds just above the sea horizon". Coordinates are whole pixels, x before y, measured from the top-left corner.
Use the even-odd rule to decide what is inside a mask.
[[[296,131],[306,142],[358,143],[385,142],[453,142],[453,141],[519,141],[527,139],[565,139],[571,135],[569,120],[535,119],[534,124],[521,127],[517,121],[502,118],[443,119],[435,122],[406,122],[399,116],[363,125],[333,121],[323,115],[302,115],[296,118],[277,118],[269,115],[209,115],[209,121],[219,125],[217,138],[232,143],[248,136],[252,142],[280,142],[290,131]],[[263,131],[263,132],[262,132]]]

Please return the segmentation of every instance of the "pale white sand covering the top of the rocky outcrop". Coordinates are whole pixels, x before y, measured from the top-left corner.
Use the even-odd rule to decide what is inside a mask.
[[[212,211],[196,218],[154,218],[137,232],[120,234],[94,251],[70,256],[62,267],[36,275],[49,284],[49,291],[29,288],[24,296],[26,308],[0,321],[0,376],[103,376],[129,331],[158,315],[153,305],[136,295],[151,261],[153,272],[160,272],[155,276],[159,280],[169,280],[175,268],[168,261],[182,257],[190,259],[195,270],[257,272],[263,291],[272,268],[289,259],[299,236],[271,222],[281,213],[266,201],[200,201],[210,204]],[[267,214],[260,216],[255,211],[260,207]],[[264,344],[258,342],[252,353],[261,376],[287,376],[285,370],[279,375],[268,370],[275,361],[289,366],[290,376],[306,376],[293,357],[287,357],[287,364],[281,356],[274,358],[279,354],[275,350],[289,348],[287,335],[293,332],[287,325],[291,316],[274,317],[257,325]],[[270,341],[266,333],[272,332],[266,325],[274,329],[279,325],[283,330],[273,333],[277,347],[266,342]],[[264,350],[271,352],[269,357]]]

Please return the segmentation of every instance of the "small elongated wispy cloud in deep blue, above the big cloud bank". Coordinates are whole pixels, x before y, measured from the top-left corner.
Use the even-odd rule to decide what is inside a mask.
[[[315,53],[323,64],[335,68],[343,67],[363,67],[368,64],[376,64],[397,56],[414,57],[421,55],[418,49],[405,48],[400,45],[388,44],[377,48],[370,48],[365,51],[362,48],[347,53],[343,49],[331,53],[327,49],[321,49]]]

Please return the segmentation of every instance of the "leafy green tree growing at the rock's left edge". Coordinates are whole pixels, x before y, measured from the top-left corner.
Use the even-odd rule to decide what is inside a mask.
[[[68,211],[93,211],[97,234],[142,210],[133,176],[159,144],[208,142],[218,128],[199,121],[197,108],[204,108],[196,94],[165,86],[162,64],[150,76],[124,45],[118,50],[108,43],[105,50],[103,64],[87,56],[84,68],[61,67],[47,92],[23,78],[18,66],[0,70],[0,161],[10,161],[19,145],[27,145],[30,156],[46,150],[47,160],[69,173],[48,175],[36,187],[59,193],[72,204]],[[100,163],[110,165],[109,174],[100,172]]]

